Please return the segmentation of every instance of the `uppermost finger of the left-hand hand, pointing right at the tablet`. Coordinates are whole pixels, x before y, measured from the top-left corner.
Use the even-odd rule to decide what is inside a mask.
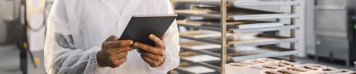
[[[128,45],[132,45],[133,40],[116,40],[116,41],[107,41],[105,42],[105,47],[108,48],[117,48],[117,47],[124,47]]]

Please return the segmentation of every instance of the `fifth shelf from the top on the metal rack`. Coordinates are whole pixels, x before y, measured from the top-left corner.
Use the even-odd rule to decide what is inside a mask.
[[[213,57],[221,57],[221,50],[194,50],[188,47],[181,47],[181,50],[197,52],[200,54],[207,54]],[[298,54],[300,51],[290,50],[282,47],[274,47],[274,46],[259,46],[255,48],[250,48],[250,50],[244,51],[236,51],[235,49],[228,49],[228,60],[232,60],[235,62],[244,61],[247,59],[258,59],[264,57],[281,57],[287,56],[291,54]]]

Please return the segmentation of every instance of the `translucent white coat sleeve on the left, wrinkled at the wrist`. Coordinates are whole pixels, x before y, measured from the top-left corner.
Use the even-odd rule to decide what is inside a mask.
[[[47,18],[45,39],[45,69],[49,74],[106,73],[96,62],[100,47],[78,49],[75,47],[64,0],[56,0]]]

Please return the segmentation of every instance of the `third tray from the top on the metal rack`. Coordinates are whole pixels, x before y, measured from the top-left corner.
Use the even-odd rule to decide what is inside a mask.
[[[228,32],[230,33],[244,33],[244,32],[261,32],[261,31],[279,31],[279,30],[289,30],[289,29],[299,29],[297,25],[284,24],[280,26],[281,22],[265,22],[256,24],[229,24],[229,23],[244,23],[244,22],[228,22]],[[194,29],[207,29],[212,31],[221,31],[219,22],[207,22],[207,21],[191,21],[191,20],[177,20],[179,26],[190,27]],[[237,26],[244,26],[244,28],[239,29]],[[267,26],[268,25],[268,26]]]

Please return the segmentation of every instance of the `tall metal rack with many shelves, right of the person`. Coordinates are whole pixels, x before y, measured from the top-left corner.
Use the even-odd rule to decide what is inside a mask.
[[[192,52],[198,52],[200,54],[207,54],[211,55],[213,57],[220,57],[221,58],[221,68],[216,68],[216,66],[209,65],[205,62],[194,62],[194,61],[188,61],[186,59],[181,59],[181,61],[186,61],[190,64],[195,64],[195,65],[200,65],[200,66],[205,66],[207,68],[212,68],[216,70],[216,72],[220,72],[221,74],[225,74],[225,64],[226,61],[229,59],[233,59],[234,61],[242,61],[246,59],[251,59],[252,58],[262,58],[266,57],[280,57],[284,55],[290,55],[290,61],[295,61],[295,55],[299,53],[299,51],[295,50],[295,42],[298,41],[297,38],[295,38],[295,29],[298,29],[299,27],[295,26],[295,18],[299,17],[299,15],[295,14],[295,6],[299,6],[299,1],[288,1],[288,2],[267,2],[265,4],[260,4],[260,3],[254,3],[254,2],[231,2],[227,0],[221,0],[221,1],[212,1],[212,2],[200,2],[200,1],[177,1],[177,3],[192,3],[192,4],[205,4],[205,5],[211,5],[211,6],[220,6],[220,14],[209,14],[209,13],[204,13],[204,14],[189,14],[189,13],[177,13],[178,15],[188,15],[188,16],[200,16],[200,17],[212,17],[216,19],[220,19],[220,28],[219,27],[207,27],[207,26],[194,26],[194,25],[189,25],[189,24],[179,24],[179,26],[184,26],[184,27],[191,27],[195,29],[209,29],[213,31],[221,31],[221,41],[218,40],[209,40],[206,38],[192,38],[189,36],[180,36],[180,38],[188,38],[192,40],[199,40],[205,43],[214,43],[214,44],[220,44],[221,45],[221,54],[217,54],[214,52],[210,52],[209,50],[194,50],[190,49],[188,47],[181,47],[181,50],[188,50]],[[227,13],[227,7],[228,6],[290,6],[291,8],[291,13],[288,14],[269,14],[269,15],[228,15]],[[268,27],[268,28],[254,28],[254,29],[232,29],[232,30],[227,30],[227,20],[258,20],[258,19],[277,19],[279,18],[291,18],[290,19],[290,24],[285,24],[282,27]],[[231,45],[228,45],[228,40],[226,34],[228,33],[242,33],[242,32],[257,32],[257,31],[277,31],[281,29],[290,29],[290,38],[287,38],[287,40],[283,41],[277,41],[277,42],[266,42],[266,43],[254,43],[254,44],[249,44],[249,45],[270,45],[270,44],[278,44],[278,43],[290,43],[290,49],[286,51],[281,51],[281,52],[272,52],[272,53],[267,53],[267,54],[255,54],[255,55],[247,55],[247,56],[242,56],[242,57],[228,57],[227,56],[227,50],[228,47]],[[288,40],[289,39],[289,40]],[[232,45],[232,46],[249,46],[247,44],[239,44],[239,45]],[[276,49],[274,49],[276,50]],[[218,71],[218,69],[220,71]],[[182,71],[182,69],[176,68],[175,70],[177,71]],[[189,72],[185,72],[189,73]]]

